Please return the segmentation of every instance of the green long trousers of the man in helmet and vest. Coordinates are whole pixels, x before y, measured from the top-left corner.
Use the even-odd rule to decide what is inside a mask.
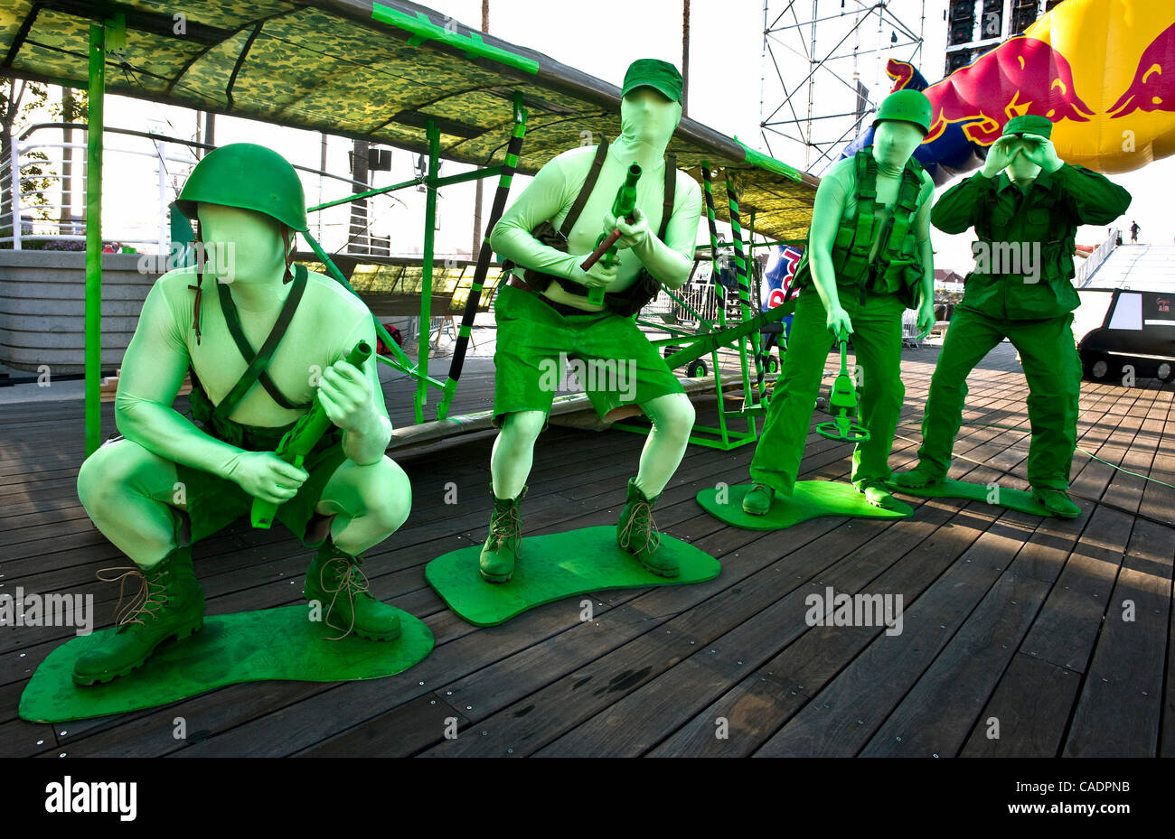
[[[862,302],[852,289],[841,295],[840,305],[853,322],[860,424],[870,431],[870,439],[858,444],[853,452],[852,480],[860,489],[870,481],[887,480],[891,474],[889,448],[906,395],[901,384],[901,314],[906,306],[895,295],[867,295]],[[800,471],[808,424],[833,341],[826,320],[815,289],[800,292],[784,367],[751,461],[751,480],[785,495],[791,494]]]

